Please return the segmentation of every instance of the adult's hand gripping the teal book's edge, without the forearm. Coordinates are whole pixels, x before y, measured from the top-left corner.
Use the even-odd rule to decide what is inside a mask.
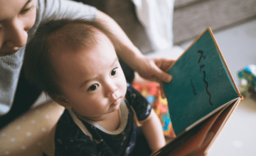
[[[172,77],[170,74],[167,74],[166,71],[175,61],[166,58],[151,58],[144,56],[141,57],[138,62],[139,65],[135,70],[138,72],[139,76],[148,79],[149,81],[159,82],[161,96],[162,98],[165,98],[163,82],[171,82]],[[137,83],[137,77],[135,77],[134,83]]]

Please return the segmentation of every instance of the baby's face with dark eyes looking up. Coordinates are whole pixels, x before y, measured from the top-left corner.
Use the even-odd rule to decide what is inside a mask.
[[[114,46],[103,33],[97,33],[97,38],[92,48],[53,55],[65,99],[61,105],[92,120],[117,111],[127,91]]]

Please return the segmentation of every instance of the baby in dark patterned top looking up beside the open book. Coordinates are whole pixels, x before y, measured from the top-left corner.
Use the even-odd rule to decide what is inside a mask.
[[[128,84],[115,36],[99,21],[53,20],[26,45],[28,80],[65,107],[55,155],[150,155],[165,145],[159,118]]]

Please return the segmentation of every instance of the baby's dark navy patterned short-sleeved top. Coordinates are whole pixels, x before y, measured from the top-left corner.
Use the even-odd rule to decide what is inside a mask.
[[[134,126],[132,108],[137,113],[138,120],[143,121],[151,113],[151,105],[128,83],[125,99],[120,106],[121,111],[119,111],[120,119],[122,123],[125,123],[123,130],[118,128],[117,131],[108,132],[97,123],[80,117],[82,123],[92,134],[92,140],[88,135],[82,133],[68,110],[65,110],[55,130],[55,155],[130,155],[131,152],[139,152],[134,151],[134,149],[140,150],[137,146],[147,149],[144,154],[150,155],[149,145],[146,143],[146,139],[142,139],[144,135],[140,128]],[[124,113],[126,111],[127,113]],[[122,127],[122,123],[120,127]],[[144,142],[138,144],[137,138]],[[142,152],[140,151],[139,154],[142,155]]]

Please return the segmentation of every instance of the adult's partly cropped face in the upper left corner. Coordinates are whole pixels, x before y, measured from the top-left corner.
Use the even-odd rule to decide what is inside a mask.
[[[28,30],[36,21],[35,0],[0,1],[0,57],[26,45]]]

